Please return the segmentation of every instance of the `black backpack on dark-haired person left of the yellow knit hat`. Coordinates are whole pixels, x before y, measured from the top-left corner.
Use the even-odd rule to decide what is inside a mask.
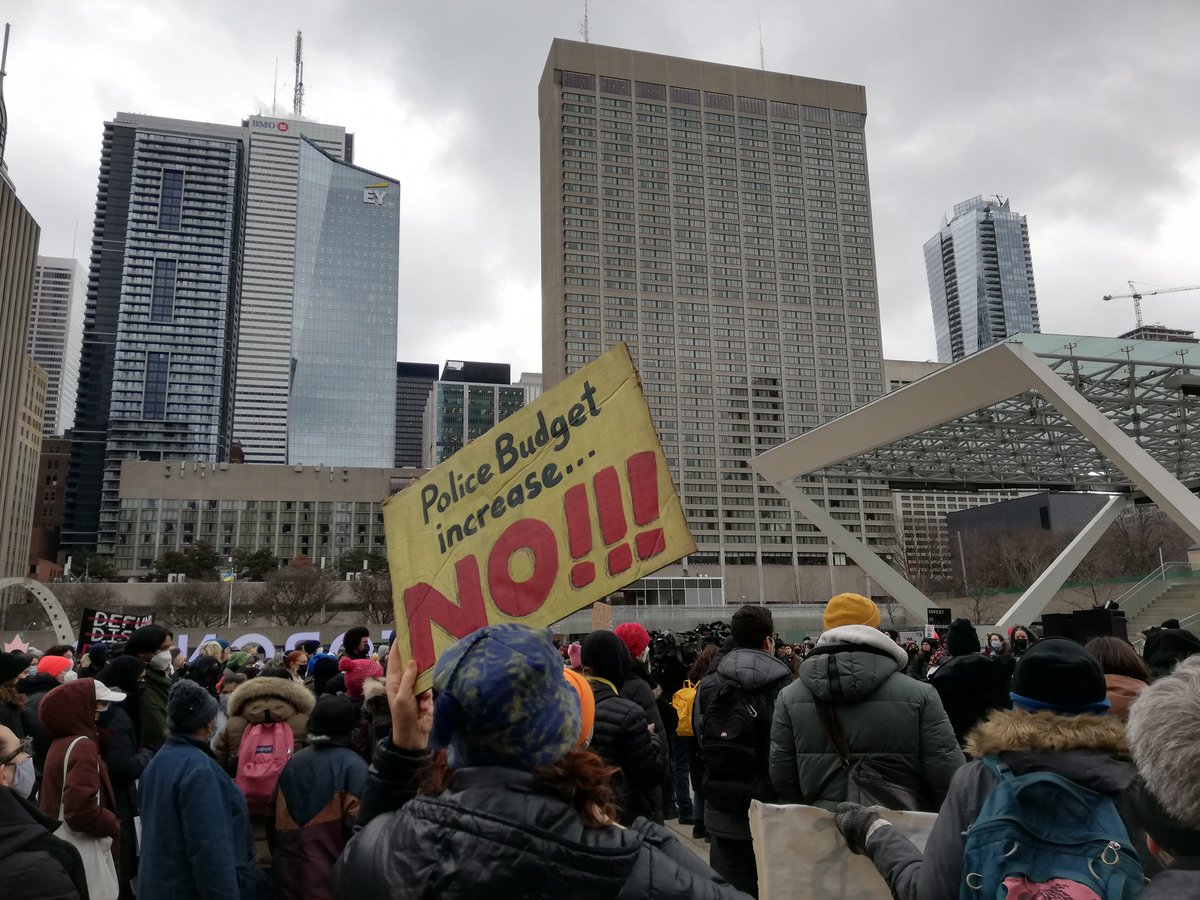
[[[704,763],[704,803],[721,812],[745,815],[750,800],[770,799],[767,768],[772,707],[762,691],[726,680],[703,710],[700,756]]]

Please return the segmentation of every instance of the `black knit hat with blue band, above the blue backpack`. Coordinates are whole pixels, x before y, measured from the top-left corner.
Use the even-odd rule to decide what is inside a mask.
[[[1106,704],[1108,692],[1104,670],[1096,656],[1066,637],[1038,641],[1021,656],[1013,676],[1013,702],[1026,708],[1102,712],[1090,707]]]

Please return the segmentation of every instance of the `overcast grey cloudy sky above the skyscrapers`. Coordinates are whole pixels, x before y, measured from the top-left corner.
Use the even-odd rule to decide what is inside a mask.
[[[540,371],[536,85],[582,0],[12,0],[10,173],[86,265],[102,124],[290,109],[403,191],[402,359]],[[1127,280],[1200,283],[1200,4],[593,0],[595,43],[866,85],[888,356],[935,356],[922,244],[974,194],[1028,216],[1042,326],[1133,328]],[[1148,289],[1144,287],[1142,289]],[[1200,292],[1145,300],[1200,330]]]

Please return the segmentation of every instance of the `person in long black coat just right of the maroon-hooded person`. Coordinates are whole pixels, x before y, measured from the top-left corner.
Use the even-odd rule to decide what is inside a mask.
[[[154,752],[140,748],[137,726],[130,709],[138,706],[138,684],[145,677],[146,664],[137,656],[118,656],[104,665],[96,680],[125,694],[125,700],[112,703],[100,716],[100,752],[108,766],[113,784],[116,818],[121,823],[121,868],[118,872],[121,898],[132,898],[132,884],[138,875],[138,779],[154,758]]]

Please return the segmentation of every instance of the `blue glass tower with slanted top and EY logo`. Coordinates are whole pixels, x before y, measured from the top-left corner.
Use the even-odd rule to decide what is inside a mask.
[[[300,143],[288,462],[396,452],[400,184]]]

